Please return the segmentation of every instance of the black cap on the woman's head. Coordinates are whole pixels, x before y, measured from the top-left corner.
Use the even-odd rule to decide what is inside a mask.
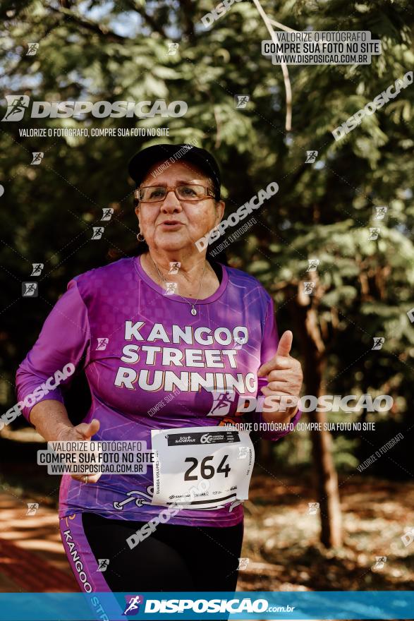
[[[211,177],[216,200],[220,200],[221,176],[219,166],[211,153],[205,149],[200,149],[200,147],[193,147],[190,144],[163,144],[146,147],[135,153],[130,159],[128,172],[137,186],[139,186],[142,179],[145,178],[147,171],[157,162],[169,161],[170,164],[173,164],[173,162],[179,162],[181,159],[195,164],[195,166],[205,171],[207,176]]]

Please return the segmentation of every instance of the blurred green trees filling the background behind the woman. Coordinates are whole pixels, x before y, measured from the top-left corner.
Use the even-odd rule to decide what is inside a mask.
[[[410,426],[414,307],[413,88],[401,90],[339,142],[331,130],[413,66],[408,0],[284,1],[264,11],[294,30],[370,30],[382,55],[366,66],[291,66],[292,130],[285,131],[281,69],[261,54],[269,38],[254,4],[235,3],[211,28],[201,18],[212,1],[5,0],[0,8],[0,84],[5,95],[34,100],[185,100],[181,118],[29,119],[2,123],[1,391],[15,401],[14,373],[68,280],[134,253],[137,226],[126,162],[140,147],[197,140],[221,164],[227,212],[264,188],[279,193],[255,213],[257,224],[229,248],[229,262],[259,278],[276,301],[279,332],[292,329],[303,361],[304,394],[391,394],[389,413],[338,413],[329,420],[376,421],[375,434],[311,435],[325,545],[341,543],[336,466],[355,471],[394,426]],[[39,43],[35,56],[29,44]],[[176,54],[169,44],[178,43]],[[235,95],[249,95],[236,108]],[[4,103],[4,102],[2,102]],[[4,111],[6,107],[4,106]],[[21,128],[158,128],[169,138],[23,138]],[[314,164],[306,151],[318,152]],[[43,151],[39,166],[32,152]],[[375,206],[386,205],[370,241]],[[102,209],[113,207],[104,236],[91,241]],[[308,260],[319,260],[308,272]],[[44,263],[39,297],[22,299],[32,263]],[[315,282],[312,295],[304,282]],[[372,350],[374,337],[383,337]],[[309,414],[324,422],[324,412]],[[369,435],[369,438],[367,437]],[[380,446],[381,444],[379,444]],[[276,464],[308,464],[308,434],[272,449]],[[399,454],[404,477],[413,458]],[[379,468],[384,466],[380,465]],[[388,471],[387,474],[393,474]]]

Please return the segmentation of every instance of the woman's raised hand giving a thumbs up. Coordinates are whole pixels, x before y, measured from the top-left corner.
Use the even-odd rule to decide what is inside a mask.
[[[287,330],[281,335],[276,354],[257,371],[258,378],[267,379],[267,386],[262,387],[264,396],[281,398],[279,411],[263,410],[262,417],[267,423],[290,421],[298,411],[296,403],[302,387],[303,373],[300,362],[290,355],[292,341],[293,333]],[[291,397],[291,400],[288,399],[291,406],[286,408],[282,397]],[[278,405],[275,403],[273,408],[277,409]]]

